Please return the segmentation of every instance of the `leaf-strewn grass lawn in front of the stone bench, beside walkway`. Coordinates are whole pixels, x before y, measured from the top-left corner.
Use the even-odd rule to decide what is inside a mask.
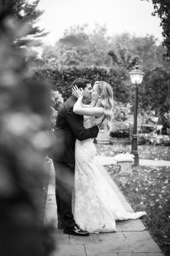
[[[153,156],[155,151],[147,148],[144,158]],[[162,151],[161,156],[167,154],[167,149]],[[117,166],[105,168],[134,211],[147,212],[142,222],[163,253],[170,256],[170,167],[134,166],[132,177],[119,176]]]

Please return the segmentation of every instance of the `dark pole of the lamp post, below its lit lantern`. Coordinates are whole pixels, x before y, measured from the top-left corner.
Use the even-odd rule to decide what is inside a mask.
[[[135,101],[134,101],[134,125],[133,125],[132,151],[131,151],[131,154],[133,154],[135,156],[134,166],[139,165],[137,113],[138,113],[138,84],[136,83],[135,84]]]

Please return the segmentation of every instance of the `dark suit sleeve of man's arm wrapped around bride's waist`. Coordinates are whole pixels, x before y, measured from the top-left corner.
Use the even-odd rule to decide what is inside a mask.
[[[94,126],[92,128],[85,129],[83,122],[82,122],[82,116],[75,114],[73,112],[73,107],[71,107],[68,110],[66,120],[67,120],[68,125],[70,126],[71,130],[73,131],[75,137],[80,141],[97,137],[97,134],[99,133],[98,126]]]

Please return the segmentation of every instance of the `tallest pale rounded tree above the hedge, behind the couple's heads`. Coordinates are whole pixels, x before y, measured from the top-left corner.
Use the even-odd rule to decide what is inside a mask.
[[[54,67],[66,66],[109,66],[111,58],[109,37],[105,26],[96,24],[90,32],[88,25],[74,26],[66,29],[62,38],[54,47],[45,48],[42,58]]]

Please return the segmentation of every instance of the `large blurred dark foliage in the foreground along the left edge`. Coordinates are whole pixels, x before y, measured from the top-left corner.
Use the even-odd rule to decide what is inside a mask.
[[[14,41],[29,27],[0,10],[0,255],[47,256],[53,244],[42,226],[40,202],[51,146],[50,91],[41,81],[22,81],[30,53]]]

